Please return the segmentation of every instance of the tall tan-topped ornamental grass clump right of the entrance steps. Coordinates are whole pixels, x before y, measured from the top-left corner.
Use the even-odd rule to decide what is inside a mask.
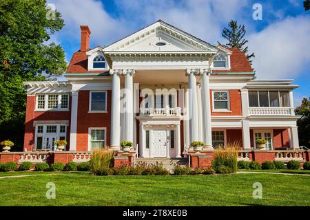
[[[220,173],[220,166],[227,166],[231,173],[237,171],[238,148],[233,145],[217,148],[212,161],[212,168]],[[223,168],[223,167],[222,167]]]

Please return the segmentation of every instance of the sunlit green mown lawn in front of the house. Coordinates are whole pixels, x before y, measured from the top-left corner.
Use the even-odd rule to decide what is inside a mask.
[[[310,177],[302,175],[41,174],[0,179],[0,206],[310,206]],[[252,197],[257,181],[262,199]],[[48,182],[56,185],[56,199],[45,197]]]

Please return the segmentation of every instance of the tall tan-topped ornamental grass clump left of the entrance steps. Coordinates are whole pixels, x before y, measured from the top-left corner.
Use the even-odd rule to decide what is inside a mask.
[[[90,170],[95,174],[100,173],[103,168],[111,168],[113,166],[113,157],[114,151],[110,151],[107,148],[92,151]]]

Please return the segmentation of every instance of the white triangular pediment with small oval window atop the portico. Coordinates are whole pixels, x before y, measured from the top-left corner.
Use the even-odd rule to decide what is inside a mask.
[[[106,52],[216,52],[217,50],[218,48],[214,45],[210,45],[163,21],[157,21],[103,49]]]

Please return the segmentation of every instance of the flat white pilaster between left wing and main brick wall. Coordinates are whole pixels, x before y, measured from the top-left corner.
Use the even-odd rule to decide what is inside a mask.
[[[71,100],[71,123],[70,123],[70,151],[76,151],[76,129],[79,91],[72,92]]]

